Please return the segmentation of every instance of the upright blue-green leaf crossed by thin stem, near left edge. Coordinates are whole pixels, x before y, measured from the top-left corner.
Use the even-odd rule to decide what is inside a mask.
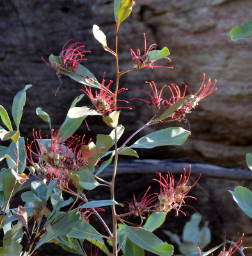
[[[19,161],[18,161],[18,169],[19,173],[21,174],[26,169],[26,150],[25,143],[24,143],[24,137],[19,137]],[[8,156],[10,156],[11,159],[6,158],[6,161],[8,163],[9,168],[12,168],[14,170],[17,169],[17,145],[14,141],[10,143],[10,146],[8,147]]]

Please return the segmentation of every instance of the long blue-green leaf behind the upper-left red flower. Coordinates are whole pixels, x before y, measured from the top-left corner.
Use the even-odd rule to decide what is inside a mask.
[[[61,68],[57,68],[57,65],[58,67],[60,65],[58,56],[54,56],[53,54],[51,54],[49,56],[49,61],[51,65],[55,67],[55,70],[57,70],[59,73],[67,75],[68,77],[74,79],[81,84],[90,85],[92,87],[100,89],[101,84],[98,83],[97,79],[95,78],[95,76],[93,76],[90,70],[88,70],[88,68],[85,68],[83,65],[80,64],[75,72],[70,72],[67,70],[62,70]],[[90,79],[88,77],[90,77]]]

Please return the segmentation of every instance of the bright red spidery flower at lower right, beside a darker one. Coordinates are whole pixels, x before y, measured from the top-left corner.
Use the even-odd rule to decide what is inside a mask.
[[[160,212],[170,212],[172,209],[175,209],[178,215],[178,211],[181,211],[180,207],[182,206],[182,204],[185,204],[185,198],[194,198],[193,196],[187,196],[187,193],[189,193],[191,188],[193,188],[193,186],[198,182],[200,177],[198,177],[198,179],[192,186],[187,185],[191,174],[191,165],[188,176],[185,175],[186,173],[184,168],[184,175],[180,175],[180,180],[178,181],[176,186],[174,177],[171,172],[168,171],[166,177],[163,177],[161,173],[157,174],[159,174],[159,180],[154,180],[156,180],[160,184],[160,193],[158,196],[159,204],[157,204],[155,210]]]

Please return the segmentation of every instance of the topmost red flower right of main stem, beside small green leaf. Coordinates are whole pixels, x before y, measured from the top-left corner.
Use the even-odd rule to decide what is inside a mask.
[[[143,35],[145,36],[145,33],[143,33]],[[138,49],[136,51],[136,53],[130,49],[131,52],[131,56],[132,56],[132,62],[134,64],[134,68],[140,69],[140,68],[145,68],[145,67],[149,67],[149,68],[173,68],[173,67],[161,67],[161,66],[154,66],[155,61],[157,60],[150,60],[150,56],[148,56],[148,54],[150,53],[150,51],[154,50],[157,44],[152,44],[150,45],[150,47],[147,50],[146,47],[146,36],[145,36],[145,54],[143,54],[143,56],[141,55],[140,49]],[[165,57],[166,59],[168,59],[169,61],[171,61],[168,57]]]

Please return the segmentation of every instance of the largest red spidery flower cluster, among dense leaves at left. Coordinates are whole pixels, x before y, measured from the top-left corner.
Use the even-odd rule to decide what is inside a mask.
[[[90,163],[90,156],[100,153],[98,151],[100,148],[93,152],[88,151],[88,145],[84,143],[84,136],[83,138],[69,136],[67,140],[63,141],[63,137],[59,136],[59,131],[52,130],[51,139],[43,139],[40,132],[35,131],[33,131],[33,138],[34,140],[28,144],[28,161],[31,163],[29,170],[33,174],[37,172],[45,177],[47,183],[57,178],[58,184],[67,186],[70,180],[68,173],[80,170]],[[32,149],[33,144],[36,150]],[[35,163],[33,158],[36,158],[38,163]]]

